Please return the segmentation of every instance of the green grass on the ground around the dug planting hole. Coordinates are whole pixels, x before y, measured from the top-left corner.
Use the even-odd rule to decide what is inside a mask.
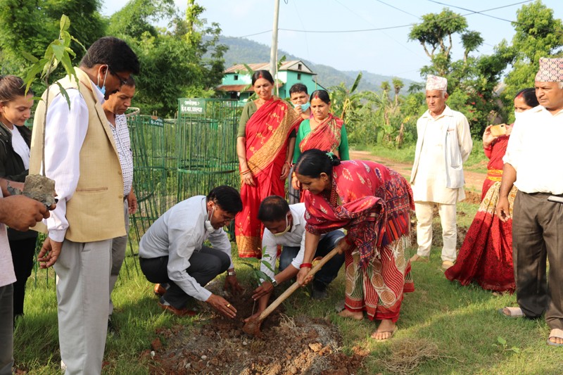
[[[469,225],[476,205],[460,204],[460,224]],[[439,234],[438,234],[439,235]],[[391,341],[378,343],[369,338],[374,322],[347,320],[336,315],[335,306],[343,300],[343,270],[329,287],[329,298],[310,303],[299,289],[286,302],[286,314],[327,317],[339,326],[343,350],[367,350],[365,368],[360,374],[391,374],[385,364],[396,358],[396,345],[422,342],[436,345],[440,357],[423,361],[416,374],[560,374],[563,348],[546,345],[549,329],[543,319],[510,319],[497,310],[516,305],[514,295],[497,297],[478,286],[460,286],[445,279],[441,270],[441,249],[433,248],[431,262],[415,263],[412,273],[415,292],[405,295],[399,331]],[[132,258],[127,258],[132,262]],[[248,260],[243,260],[248,261]],[[251,270],[235,259],[239,279],[248,285]],[[150,350],[160,328],[174,324],[199,324],[197,318],[179,318],[163,313],[156,305],[152,284],[137,275],[129,264],[129,277],[122,276],[113,294],[113,321],[119,334],[108,336],[104,374],[148,374],[148,360],[141,356]],[[42,275],[42,274],[40,274]],[[221,277],[222,279],[223,277]],[[25,317],[15,329],[15,362],[30,374],[56,374],[59,368],[56,295],[53,277],[39,277],[37,287],[30,280],[25,301]],[[499,345],[498,338],[506,341]],[[164,343],[165,344],[165,343]],[[517,348],[519,352],[505,350]]]

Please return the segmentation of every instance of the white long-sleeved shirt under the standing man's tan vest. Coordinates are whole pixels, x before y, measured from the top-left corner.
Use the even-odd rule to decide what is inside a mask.
[[[98,101],[103,94],[96,84],[91,85]],[[51,217],[44,220],[49,238],[62,242],[68,229],[66,203],[76,191],[80,178],[80,149],[88,130],[88,107],[77,89],[68,89],[70,108],[63,95],[57,95],[49,105],[45,125],[46,176],[55,181],[58,203]]]

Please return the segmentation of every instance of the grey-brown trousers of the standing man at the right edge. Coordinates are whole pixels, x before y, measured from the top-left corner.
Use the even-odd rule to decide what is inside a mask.
[[[522,193],[514,200],[512,246],[518,305],[526,317],[540,317],[563,329],[563,204],[547,193]],[[546,277],[546,262],[550,271]]]

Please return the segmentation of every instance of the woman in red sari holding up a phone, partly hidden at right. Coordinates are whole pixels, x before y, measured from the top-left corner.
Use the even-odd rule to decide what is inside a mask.
[[[514,98],[514,115],[538,106],[535,89],[519,91]],[[507,132],[493,136],[491,126],[483,133],[483,149],[490,159],[487,178],[483,182],[481,205],[467,231],[460,254],[453,267],[445,271],[451,281],[468,285],[475,281],[487,291],[513,293],[514,264],[512,262],[512,219],[501,222],[495,215],[502,178],[502,157],[505,155],[512,125],[505,125]],[[516,187],[509,194],[510,207],[514,203]],[[510,212],[512,215],[512,212]]]

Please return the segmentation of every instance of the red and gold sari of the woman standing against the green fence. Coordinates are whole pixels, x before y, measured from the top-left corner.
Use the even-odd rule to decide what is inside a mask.
[[[284,196],[279,179],[286,161],[289,134],[303,119],[280,98],[266,101],[246,122],[246,163],[255,186],[241,183],[243,209],[234,219],[234,234],[240,258],[262,257],[260,202],[267,196]]]

